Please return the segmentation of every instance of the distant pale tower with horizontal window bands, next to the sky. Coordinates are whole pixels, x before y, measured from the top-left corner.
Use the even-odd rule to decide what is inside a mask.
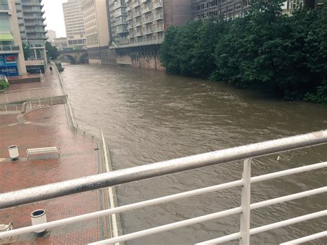
[[[65,19],[68,47],[85,49],[86,34],[82,11],[82,0],[68,0],[68,2],[63,3],[63,17]]]

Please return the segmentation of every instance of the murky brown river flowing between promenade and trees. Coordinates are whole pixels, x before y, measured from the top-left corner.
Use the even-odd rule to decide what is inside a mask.
[[[115,66],[65,65],[61,73],[77,118],[102,128],[115,170],[327,128],[327,106],[266,99],[228,84]],[[277,157],[279,156],[279,160]],[[327,159],[327,146],[260,157],[252,176]],[[117,187],[119,204],[130,204],[241,178],[242,163],[221,164]],[[326,170],[252,185],[251,202],[326,186]],[[123,213],[132,233],[240,205],[240,188]],[[326,208],[326,195],[259,208],[251,227]],[[260,233],[251,244],[277,244],[326,229],[326,219]],[[239,231],[239,215],[126,244],[194,244]],[[232,242],[228,244],[237,244]],[[315,244],[324,244],[322,240]]]

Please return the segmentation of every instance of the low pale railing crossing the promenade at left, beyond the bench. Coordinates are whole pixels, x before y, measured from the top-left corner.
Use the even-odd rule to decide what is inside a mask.
[[[44,97],[63,95],[61,88],[36,88],[29,90],[12,90],[0,95],[0,104],[8,104],[17,101],[27,101]]]

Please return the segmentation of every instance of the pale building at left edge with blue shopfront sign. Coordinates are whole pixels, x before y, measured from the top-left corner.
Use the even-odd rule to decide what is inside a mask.
[[[0,75],[26,75],[14,0],[0,0]]]

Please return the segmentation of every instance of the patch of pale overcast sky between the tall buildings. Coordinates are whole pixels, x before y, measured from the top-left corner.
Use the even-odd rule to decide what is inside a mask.
[[[62,3],[66,1],[67,0],[43,0],[44,10],[46,10],[46,29],[55,30],[57,37],[66,37],[62,8]]]

